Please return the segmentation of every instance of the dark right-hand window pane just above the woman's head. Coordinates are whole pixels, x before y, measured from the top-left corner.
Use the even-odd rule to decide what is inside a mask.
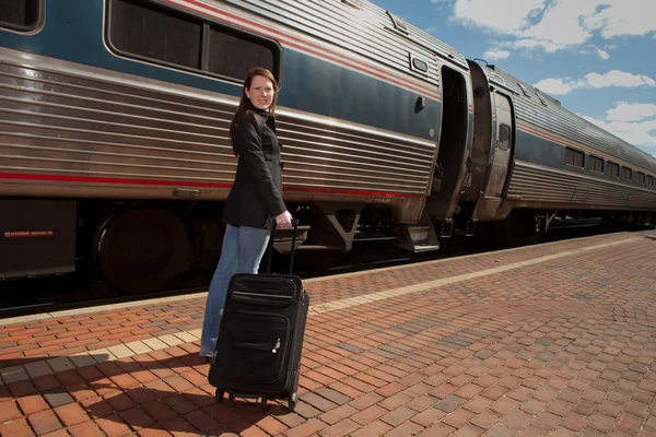
[[[254,67],[273,69],[273,52],[257,43],[227,35],[219,29],[210,31],[208,70],[229,78],[246,78]]]

